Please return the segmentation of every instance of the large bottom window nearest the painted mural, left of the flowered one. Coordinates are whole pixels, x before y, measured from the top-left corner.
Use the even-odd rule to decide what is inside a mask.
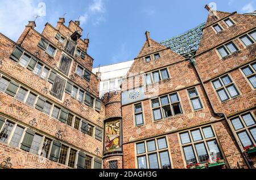
[[[171,169],[166,138],[137,143],[136,149],[139,169]]]

